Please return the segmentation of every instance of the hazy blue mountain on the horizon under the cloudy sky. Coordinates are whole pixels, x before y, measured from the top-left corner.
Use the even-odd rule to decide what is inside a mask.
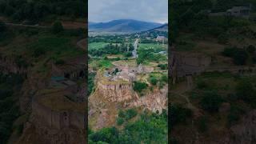
[[[142,22],[133,19],[119,19],[100,23],[89,22],[90,31],[106,32],[139,32],[151,30],[158,26],[162,26],[162,24],[155,22]]]

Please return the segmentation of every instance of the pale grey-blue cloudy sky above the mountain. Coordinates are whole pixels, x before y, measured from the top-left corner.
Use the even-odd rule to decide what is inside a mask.
[[[136,19],[168,22],[168,0],[89,0],[89,22]]]

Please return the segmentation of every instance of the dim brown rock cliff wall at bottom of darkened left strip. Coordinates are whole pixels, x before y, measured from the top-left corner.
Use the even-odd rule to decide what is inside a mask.
[[[34,95],[29,121],[18,143],[86,143],[85,115],[74,110],[55,110]],[[60,100],[62,101],[62,100]]]

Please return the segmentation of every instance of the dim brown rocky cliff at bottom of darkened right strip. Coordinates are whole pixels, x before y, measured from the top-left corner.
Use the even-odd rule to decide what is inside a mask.
[[[191,126],[187,126],[183,130],[175,130],[174,133],[181,136],[178,141],[184,144],[253,144],[256,143],[256,110],[247,113],[238,124],[229,129],[207,134],[208,138]],[[187,136],[184,137],[182,134]]]

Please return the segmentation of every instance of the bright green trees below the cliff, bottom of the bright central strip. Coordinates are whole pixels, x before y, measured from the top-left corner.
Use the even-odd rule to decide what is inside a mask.
[[[129,119],[134,116],[134,112],[128,110],[126,114],[118,114],[118,117],[122,115]],[[167,143],[166,110],[162,114],[149,114],[145,111],[140,117],[136,122],[124,124],[124,130],[116,127],[103,128],[97,132],[90,130],[89,143]]]

